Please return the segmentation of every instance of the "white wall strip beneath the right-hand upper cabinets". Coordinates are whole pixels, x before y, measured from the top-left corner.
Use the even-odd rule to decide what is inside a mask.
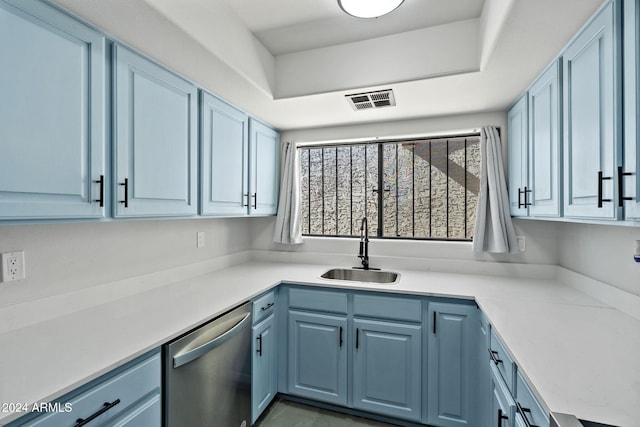
[[[559,265],[640,295],[640,264],[633,261],[639,227],[560,224]]]

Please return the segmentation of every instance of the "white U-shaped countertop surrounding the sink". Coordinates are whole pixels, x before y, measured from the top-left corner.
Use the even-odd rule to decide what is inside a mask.
[[[320,279],[328,268],[243,263],[5,328],[0,403],[60,397],[284,282],[475,299],[547,409],[640,426],[640,320],[556,280],[401,270],[376,285]]]

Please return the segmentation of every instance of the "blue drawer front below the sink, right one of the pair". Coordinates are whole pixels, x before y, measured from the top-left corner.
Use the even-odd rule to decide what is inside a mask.
[[[356,316],[422,322],[422,300],[395,296],[354,294]]]

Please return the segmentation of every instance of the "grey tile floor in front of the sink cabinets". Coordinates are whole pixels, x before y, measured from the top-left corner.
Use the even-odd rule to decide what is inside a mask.
[[[392,427],[379,421],[276,399],[254,427]]]

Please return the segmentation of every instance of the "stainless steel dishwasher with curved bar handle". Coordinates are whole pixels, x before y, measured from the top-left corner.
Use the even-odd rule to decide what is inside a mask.
[[[251,424],[251,303],[165,346],[167,427]]]

